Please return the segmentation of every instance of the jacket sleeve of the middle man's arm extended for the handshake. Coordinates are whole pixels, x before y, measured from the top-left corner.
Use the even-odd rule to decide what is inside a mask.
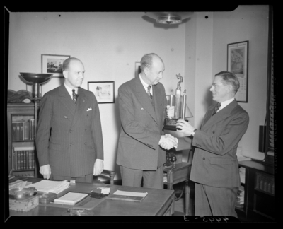
[[[121,86],[118,94],[120,118],[125,133],[146,146],[154,149],[158,148],[161,134],[159,131],[152,130],[152,127],[144,127],[144,124],[135,119],[134,107],[136,106],[132,100],[132,93],[130,93],[127,86]]]

